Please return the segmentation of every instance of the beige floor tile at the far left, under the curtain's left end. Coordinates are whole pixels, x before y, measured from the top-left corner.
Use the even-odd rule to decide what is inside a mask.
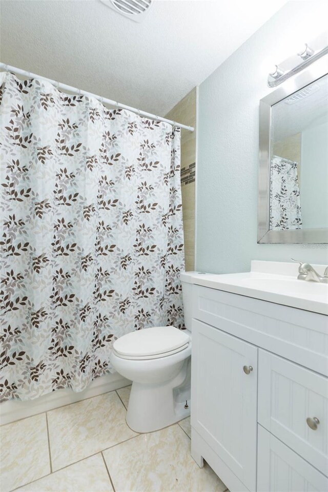
[[[50,473],[46,414],[1,426],[0,442],[2,492]]]

